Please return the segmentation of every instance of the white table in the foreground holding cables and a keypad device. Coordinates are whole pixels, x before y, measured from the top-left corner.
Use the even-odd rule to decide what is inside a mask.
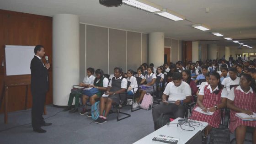
[[[158,141],[153,141],[152,140],[154,137],[159,136],[160,134],[179,138],[180,140],[179,140],[178,144],[185,144],[195,134],[197,134],[197,132],[203,130],[206,126],[208,126],[208,123],[206,123],[206,122],[196,121],[196,122],[202,123],[203,127],[202,126],[199,126],[199,127],[194,126],[195,130],[186,131],[186,130],[183,130],[183,129],[192,130],[193,128],[191,128],[189,126],[185,126],[183,124],[183,125],[181,125],[181,127],[183,129],[181,129],[180,125],[179,125],[179,127],[177,127],[177,124],[172,124],[172,123],[178,123],[178,120],[180,118],[181,117],[176,118],[175,120],[170,122],[169,126],[165,125],[162,128],[159,128],[155,132],[150,133],[149,135],[145,136],[144,138],[138,140],[137,142],[135,142],[133,144],[166,144],[166,143],[163,143],[163,142],[158,142]]]

